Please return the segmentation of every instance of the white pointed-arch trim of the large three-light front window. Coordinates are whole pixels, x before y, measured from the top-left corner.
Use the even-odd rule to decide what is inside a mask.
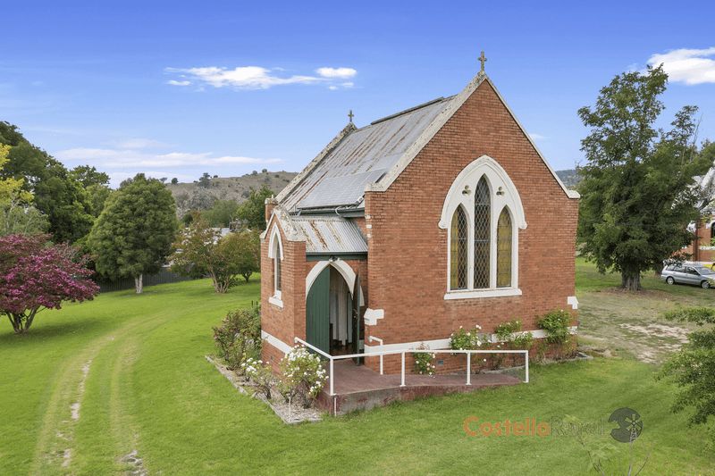
[[[475,209],[475,188],[482,177],[486,178],[489,187],[490,203],[492,210],[490,213],[490,272],[489,288],[474,289],[474,209]],[[468,187],[468,189],[466,188]],[[501,188],[502,195],[496,195],[496,191]],[[463,190],[469,193],[463,194]],[[451,270],[451,220],[457,207],[462,205],[467,215],[468,243],[467,246],[467,289],[450,289]],[[497,273],[497,224],[501,211],[506,207],[511,215],[511,286],[509,288],[496,287]],[[475,297],[501,297],[501,296],[521,296],[521,289],[518,288],[518,230],[526,230],[526,220],[524,217],[524,207],[521,204],[517,188],[514,182],[509,179],[509,175],[499,163],[488,155],[482,155],[473,163],[470,163],[452,182],[449,192],[442,205],[442,215],[439,227],[448,230],[447,238],[447,292],[444,299],[469,299]]]

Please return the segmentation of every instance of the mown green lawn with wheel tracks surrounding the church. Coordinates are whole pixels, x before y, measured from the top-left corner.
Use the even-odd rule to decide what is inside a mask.
[[[189,281],[45,311],[27,336],[6,323],[0,474],[123,475],[135,469],[133,451],[149,475],[594,474],[574,438],[469,436],[464,422],[593,422],[622,406],[643,417],[645,474],[711,473],[704,431],[669,413],[673,388],[635,360],[534,365],[532,382],[517,387],[283,425],[204,357],[214,353],[211,326],[259,292],[253,282],[221,296]],[[627,446],[618,450],[625,463]]]

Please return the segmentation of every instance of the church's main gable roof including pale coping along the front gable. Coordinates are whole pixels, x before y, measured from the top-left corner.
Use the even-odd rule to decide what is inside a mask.
[[[484,71],[479,71],[457,96],[420,104],[361,129],[350,122],[282,190],[276,201],[289,213],[321,208],[364,208],[365,191],[387,190],[484,81],[492,87],[564,193],[569,198],[578,198],[576,191],[568,190],[559,180],[491,79]]]

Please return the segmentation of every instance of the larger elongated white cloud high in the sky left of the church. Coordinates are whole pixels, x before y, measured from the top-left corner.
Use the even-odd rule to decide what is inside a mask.
[[[272,86],[291,83],[315,83],[324,80],[312,76],[291,76],[290,78],[279,78],[272,76],[270,70],[259,66],[239,67],[235,70],[226,68],[190,68],[189,70],[179,70],[166,68],[167,72],[181,72],[198,81],[203,81],[214,88],[232,86],[234,88],[266,89]],[[184,75],[184,76],[185,76]]]

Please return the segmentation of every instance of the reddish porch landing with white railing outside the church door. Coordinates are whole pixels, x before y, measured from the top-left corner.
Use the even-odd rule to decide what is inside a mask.
[[[467,385],[467,375],[406,374],[406,387],[400,387],[400,374],[380,375],[365,365],[356,366],[351,360],[334,363],[334,372],[335,395],[331,397],[330,385],[325,385],[315,398],[315,405],[324,412],[338,415],[387,405],[393,400],[409,401],[428,395],[467,393],[479,388],[521,383],[520,380],[501,373],[473,374],[472,385]]]

